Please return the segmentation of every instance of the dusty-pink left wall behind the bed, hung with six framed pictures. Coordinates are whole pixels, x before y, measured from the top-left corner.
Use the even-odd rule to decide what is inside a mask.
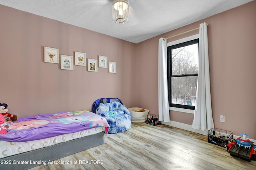
[[[67,110],[91,110],[102,97],[120,98],[136,106],[134,43],[36,16],[0,5],[0,102],[19,117]],[[88,72],[87,66],[61,70],[60,64],[44,63],[44,46],[62,55],[74,51],[90,59],[98,55],[117,63],[117,74],[107,68]]]

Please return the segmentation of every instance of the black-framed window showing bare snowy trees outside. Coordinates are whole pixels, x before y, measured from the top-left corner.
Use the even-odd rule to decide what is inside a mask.
[[[167,47],[169,106],[195,109],[198,43],[192,39]]]

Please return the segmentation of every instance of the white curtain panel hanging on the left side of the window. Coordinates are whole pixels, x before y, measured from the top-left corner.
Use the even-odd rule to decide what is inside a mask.
[[[167,82],[167,43],[159,39],[158,45],[158,113],[159,121],[170,122]]]

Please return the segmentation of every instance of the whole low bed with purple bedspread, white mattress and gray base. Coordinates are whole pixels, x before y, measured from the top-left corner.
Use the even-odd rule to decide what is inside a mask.
[[[108,130],[106,119],[89,111],[20,117],[0,135],[1,169],[29,169],[96,147]]]

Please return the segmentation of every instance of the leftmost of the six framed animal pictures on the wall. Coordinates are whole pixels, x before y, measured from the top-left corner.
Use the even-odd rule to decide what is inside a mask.
[[[44,62],[59,63],[59,49],[44,47]]]

